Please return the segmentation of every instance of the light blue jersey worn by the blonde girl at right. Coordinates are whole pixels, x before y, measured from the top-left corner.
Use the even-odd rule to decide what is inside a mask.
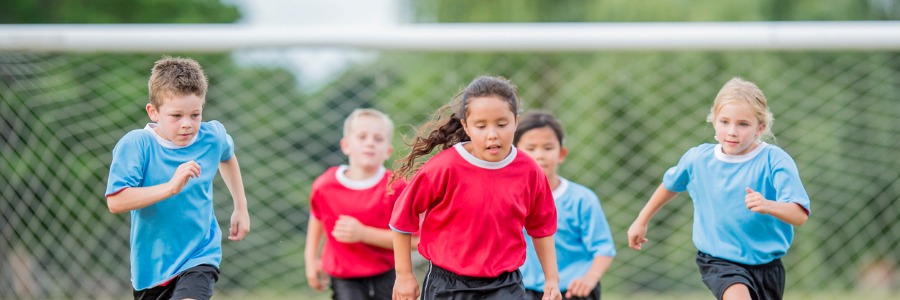
[[[698,250],[747,265],[784,256],[794,238],[791,224],[747,208],[747,187],[768,200],[797,203],[810,211],[794,160],[766,143],[744,155],[725,154],[719,144],[691,148],[666,171],[663,184],[673,192],[687,190],[693,199]]]

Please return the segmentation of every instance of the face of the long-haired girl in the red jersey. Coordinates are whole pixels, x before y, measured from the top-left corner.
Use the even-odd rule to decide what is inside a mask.
[[[466,144],[466,150],[484,161],[498,162],[506,158],[512,150],[518,122],[509,103],[497,96],[475,97],[469,99],[466,110],[466,119],[461,122],[472,139]]]

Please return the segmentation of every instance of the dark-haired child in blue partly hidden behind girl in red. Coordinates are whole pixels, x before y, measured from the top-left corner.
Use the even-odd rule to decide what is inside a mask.
[[[600,279],[616,255],[612,233],[600,199],[590,189],[557,174],[569,150],[563,146],[562,125],[546,112],[530,112],[522,116],[513,145],[528,153],[538,163],[556,204],[557,229],[554,235],[559,286],[564,299],[600,299]],[[525,299],[540,300],[544,275],[531,238],[522,271]]]

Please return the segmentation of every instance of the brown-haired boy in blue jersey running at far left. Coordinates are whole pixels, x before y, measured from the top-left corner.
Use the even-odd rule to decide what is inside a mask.
[[[217,171],[234,201],[228,238],[240,241],[250,230],[234,142],[221,123],[201,122],[207,81],[196,61],[163,57],[148,86],[153,123],[113,149],[107,206],[131,212],[134,299],[209,299],[222,260]]]

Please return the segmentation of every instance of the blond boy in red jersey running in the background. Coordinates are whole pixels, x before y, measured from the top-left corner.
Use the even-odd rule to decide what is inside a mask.
[[[333,299],[391,299],[394,254],[388,221],[406,183],[384,167],[394,125],[384,113],[357,109],[344,121],[341,150],[349,165],[331,167],[313,182],[306,235],[306,279],[315,290],[332,277]],[[325,247],[319,260],[323,235]]]

